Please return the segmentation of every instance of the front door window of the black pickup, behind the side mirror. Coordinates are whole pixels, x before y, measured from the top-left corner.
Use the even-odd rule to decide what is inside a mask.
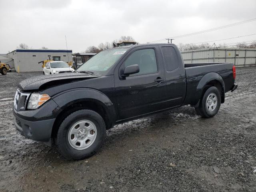
[[[124,66],[138,64],[140,72],[134,75],[157,72],[156,54],[154,49],[141,49],[133,52],[124,62]],[[131,75],[133,76],[133,75]]]

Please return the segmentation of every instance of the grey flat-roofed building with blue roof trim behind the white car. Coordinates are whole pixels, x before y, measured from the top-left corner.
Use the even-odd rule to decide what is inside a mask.
[[[10,67],[17,72],[42,71],[43,60],[72,61],[72,50],[41,50],[41,49],[16,49],[5,55],[6,58],[13,60]]]

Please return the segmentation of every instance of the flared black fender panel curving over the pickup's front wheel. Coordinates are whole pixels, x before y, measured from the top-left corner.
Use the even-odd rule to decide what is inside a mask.
[[[91,88],[76,88],[56,94],[52,99],[58,106],[60,106],[61,110],[78,102],[96,102],[106,110],[110,122],[114,123],[116,121],[114,104],[104,93],[98,90]]]

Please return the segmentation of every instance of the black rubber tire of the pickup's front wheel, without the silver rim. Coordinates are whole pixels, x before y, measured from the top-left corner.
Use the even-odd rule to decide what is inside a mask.
[[[89,120],[94,123],[97,134],[94,142],[86,149],[78,150],[69,143],[69,130],[76,122],[81,120]],[[103,118],[92,110],[78,110],[66,117],[58,129],[57,138],[55,140],[56,147],[62,156],[70,160],[80,160],[88,158],[95,154],[104,141],[106,135],[106,125]]]

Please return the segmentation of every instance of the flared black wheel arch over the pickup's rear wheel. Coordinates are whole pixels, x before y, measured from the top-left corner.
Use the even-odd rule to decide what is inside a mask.
[[[199,81],[197,87],[196,87],[196,94],[195,94],[195,98],[194,98],[194,104],[198,103],[204,88],[206,88],[207,84],[209,84],[212,81],[218,81],[221,86],[222,86],[222,97],[225,97],[225,83],[223,78],[220,76],[220,74],[216,73],[216,72],[210,72],[205,74]],[[224,102],[224,98],[222,98],[223,102]]]

